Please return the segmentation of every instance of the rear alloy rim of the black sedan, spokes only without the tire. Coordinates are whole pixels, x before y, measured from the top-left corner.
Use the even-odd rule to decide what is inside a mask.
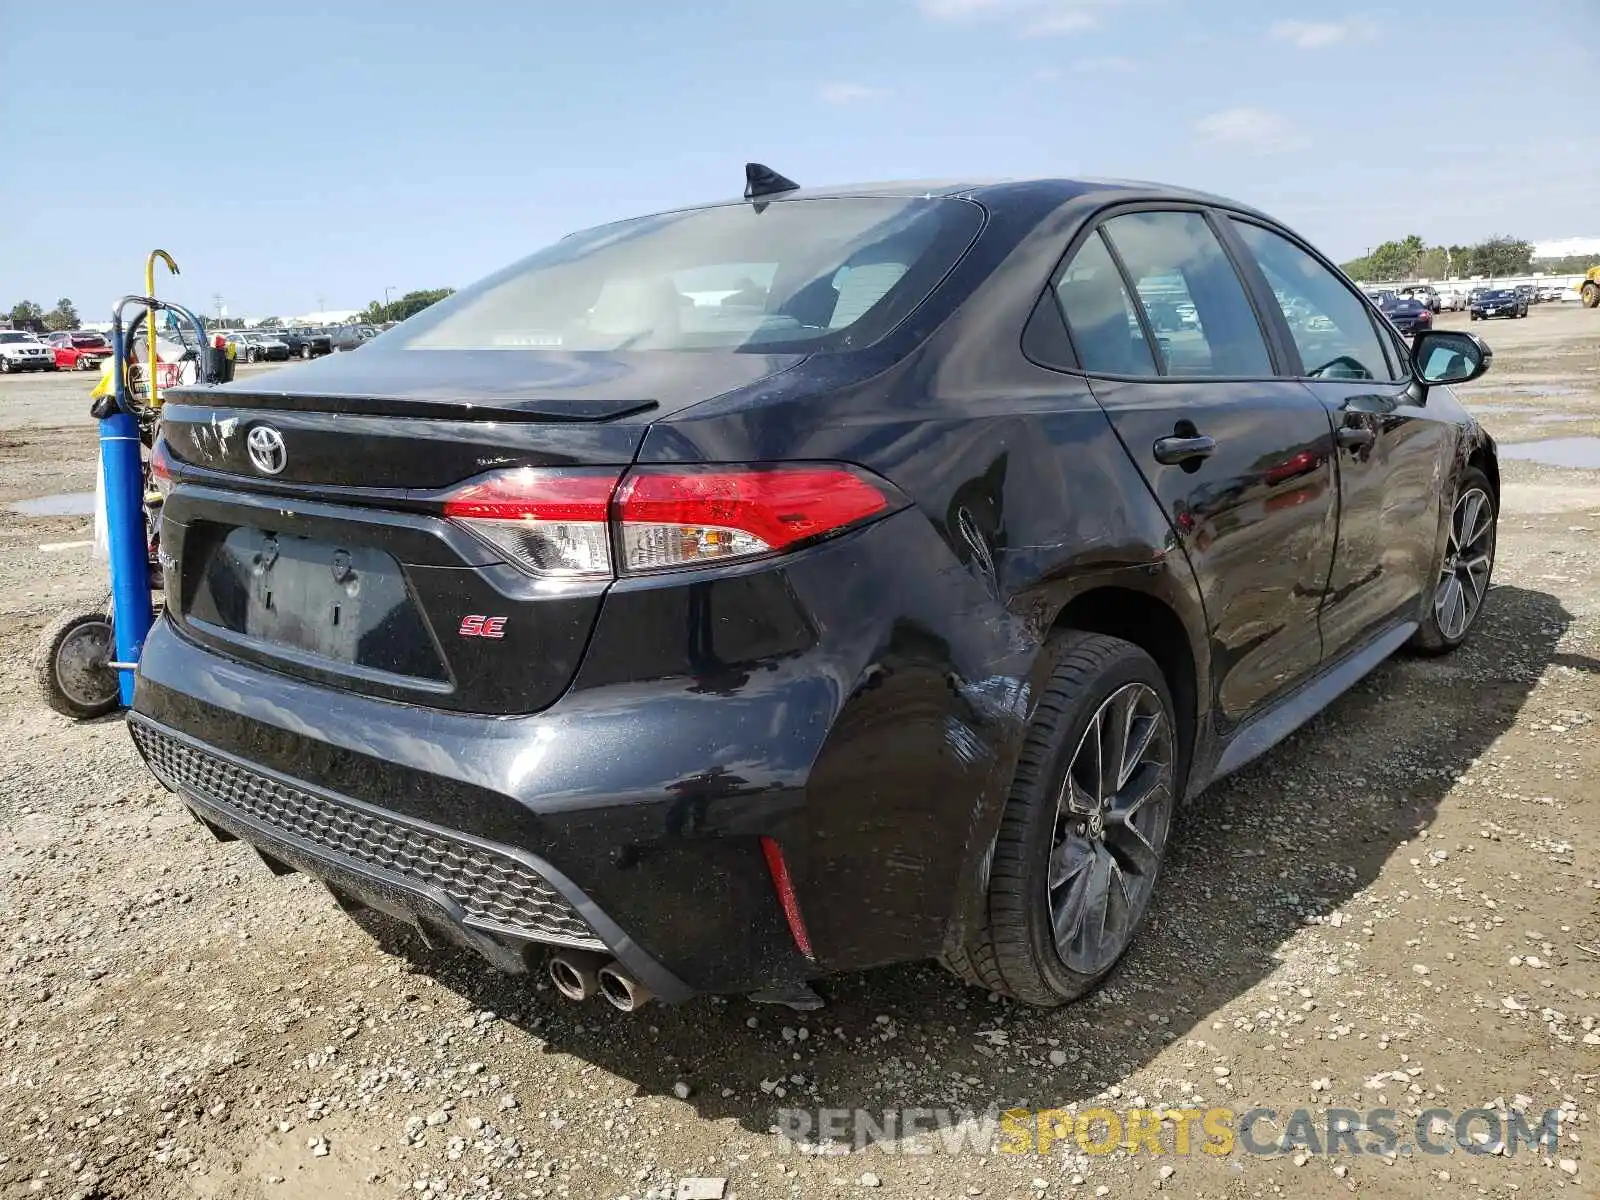
[[[1094,710],[1056,800],[1050,918],[1056,952],[1104,971],[1155,888],[1173,811],[1173,728],[1155,690],[1128,683]]]

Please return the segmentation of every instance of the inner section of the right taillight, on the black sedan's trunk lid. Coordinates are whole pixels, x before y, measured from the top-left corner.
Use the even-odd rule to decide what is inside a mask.
[[[501,470],[445,499],[445,515],[546,579],[610,579],[606,514],[621,470]]]

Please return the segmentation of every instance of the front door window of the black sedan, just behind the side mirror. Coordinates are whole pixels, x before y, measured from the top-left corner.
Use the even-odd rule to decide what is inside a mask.
[[[1283,309],[1307,378],[1394,378],[1360,296],[1288,238],[1245,221],[1234,227]]]

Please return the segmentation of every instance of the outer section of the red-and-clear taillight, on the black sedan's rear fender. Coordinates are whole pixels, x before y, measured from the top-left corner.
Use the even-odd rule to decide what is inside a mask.
[[[645,467],[616,493],[624,573],[774,554],[890,507],[843,466]]]

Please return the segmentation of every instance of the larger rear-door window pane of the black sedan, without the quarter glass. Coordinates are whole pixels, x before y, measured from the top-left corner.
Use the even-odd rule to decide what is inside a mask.
[[[1261,323],[1198,213],[1128,213],[1102,227],[1144,306],[1166,374],[1272,374]]]

